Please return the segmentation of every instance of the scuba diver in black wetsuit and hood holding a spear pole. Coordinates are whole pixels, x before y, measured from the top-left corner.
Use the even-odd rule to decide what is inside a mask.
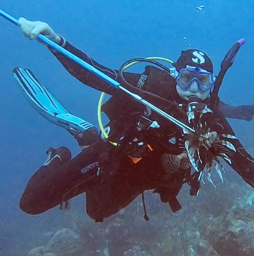
[[[191,124],[196,134],[178,128],[48,47],[65,69],[83,84],[112,96],[101,107],[110,122],[99,135],[93,125],[71,115],[30,70],[14,69],[14,76],[33,108],[70,132],[82,148],[73,159],[66,147],[47,150],[48,159],[31,177],[21,197],[20,207],[24,212],[40,214],[59,204],[60,208],[68,208],[70,198],[86,192],[88,215],[102,222],[138,195],[142,194],[144,201],[143,192],[153,189],[160,194],[161,201],[168,202],[173,213],[177,213],[182,209],[176,198],[182,185],[188,183],[190,195],[196,196],[205,167],[212,183],[211,167],[215,163],[223,182],[223,167],[217,156],[225,159],[254,187],[254,159],[235,137],[225,118],[251,120],[254,105],[232,107],[219,101],[217,94],[213,94],[216,79],[213,65],[204,52],[182,51],[171,69],[162,65],[159,66],[164,70],[146,66],[142,74],[128,73],[123,70],[133,61],[126,62],[119,71],[106,68],[73,47],[45,22],[20,18],[18,25],[28,39],[37,39],[38,34],[43,34],[120,84],[129,84],[128,90],[181,122]],[[197,172],[192,173],[191,167]],[[148,220],[146,212],[144,217]]]

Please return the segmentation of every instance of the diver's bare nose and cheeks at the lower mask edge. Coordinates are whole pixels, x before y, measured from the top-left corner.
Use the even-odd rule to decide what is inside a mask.
[[[185,100],[189,100],[189,98],[191,96],[195,96],[195,97],[198,97],[202,100],[205,100],[209,93],[210,93],[210,90],[209,91],[201,91],[201,89],[199,88],[198,84],[197,84],[197,81],[196,80],[193,80],[190,85],[185,89],[181,89],[178,85],[176,86],[176,91],[178,92],[178,94]]]

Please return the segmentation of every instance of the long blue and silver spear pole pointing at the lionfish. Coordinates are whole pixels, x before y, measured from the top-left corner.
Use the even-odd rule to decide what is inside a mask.
[[[18,25],[18,20],[15,19],[14,17],[10,16],[8,13],[4,12],[3,10],[0,9],[0,16],[3,16],[5,19],[7,19],[8,21],[12,22],[13,24],[15,24],[16,26]],[[153,104],[149,103],[148,101],[144,100],[142,97],[140,97],[137,94],[134,94],[130,91],[128,91],[127,89],[125,89],[123,86],[121,86],[121,84],[119,84],[117,81],[115,81],[114,79],[108,77],[107,75],[105,75],[104,73],[100,72],[99,70],[97,70],[96,68],[94,68],[93,66],[89,65],[88,63],[86,63],[85,61],[83,61],[82,59],[78,58],[76,55],[70,53],[69,51],[67,51],[66,49],[64,49],[63,47],[59,46],[58,44],[54,43],[53,41],[49,40],[48,38],[46,38],[44,35],[42,34],[38,34],[37,38],[44,42],[45,44],[47,44],[48,46],[52,47],[53,49],[57,50],[58,52],[62,53],[64,56],[66,56],[67,58],[73,60],[74,62],[76,62],[78,65],[82,66],[83,68],[87,69],[88,71],[92,72],[94,75],[98,76],[99,78],[103,79],[104,81],[106,81],[107,83],[115,86],[118,89],[121,89],[122,91],[126,92],[127,94],[129,94],[132,98],[134,98],[136,101],[142,103],[143,105],[149,107],[150,109],[153,109],[156,113],[158,113],[159,115],[165,117],[167,120],[169,120],[170,122],[174,123],[175,125],[177,125],[180,128],[185,128],[191,132],[195,132],[194,129],[190,128],[189,126],[187,126],[186,124],[180,122],[179,120],[175,119],[174,117],[170,116],[169,114],[167,114],[166,112],[162,111],[161,109],[157,108],[156,106],[154,106]]]

